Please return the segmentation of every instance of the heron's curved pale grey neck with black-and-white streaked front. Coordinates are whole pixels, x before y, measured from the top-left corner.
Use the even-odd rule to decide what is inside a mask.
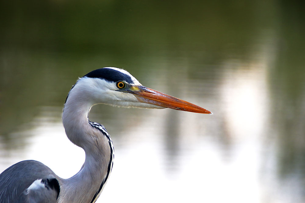
[[[112,142],[106,129],[103,132],[89,123],[92,105],[76,87],[71,89],[63,110],[63,126],[69,140],[84,149],[86,158],[77,174],[62,180],[59,202],[95,202],[111,172]]]

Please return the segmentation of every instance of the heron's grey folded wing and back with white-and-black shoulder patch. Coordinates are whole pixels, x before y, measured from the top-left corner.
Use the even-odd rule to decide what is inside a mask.
[[[38,161],[21,161],[0,174],[0,203],[56,202],[59,191],[58,177]]]

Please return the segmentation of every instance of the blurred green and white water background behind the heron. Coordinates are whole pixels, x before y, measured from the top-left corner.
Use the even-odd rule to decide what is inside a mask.
[[[92,108],[115,160],[97,202],[305,202],[305,3],[0,3],[0,171],[36,159],[60,177],[84,152],[61,112],[77,77],[124,68],[214,113]]]

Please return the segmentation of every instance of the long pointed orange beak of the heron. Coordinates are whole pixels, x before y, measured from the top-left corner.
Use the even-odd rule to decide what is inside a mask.
[[[195,104],[144,86],[131,86],[128,92],[133,93],[139,102],[149,103],[181,111],[189,111],[201,114],[213,114],[209,110],[206,110]]]

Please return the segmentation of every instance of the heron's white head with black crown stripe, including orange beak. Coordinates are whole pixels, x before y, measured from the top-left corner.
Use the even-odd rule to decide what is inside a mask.
[[[195,104],[142,86],[135,77],[120,68],[107,67],[89,72],[76,82],[69,95],[74,92],[82,95],[81,98],[87,102],[90,100],[91,105],[103,103],[119,107],[172,108],[211,114]]]

